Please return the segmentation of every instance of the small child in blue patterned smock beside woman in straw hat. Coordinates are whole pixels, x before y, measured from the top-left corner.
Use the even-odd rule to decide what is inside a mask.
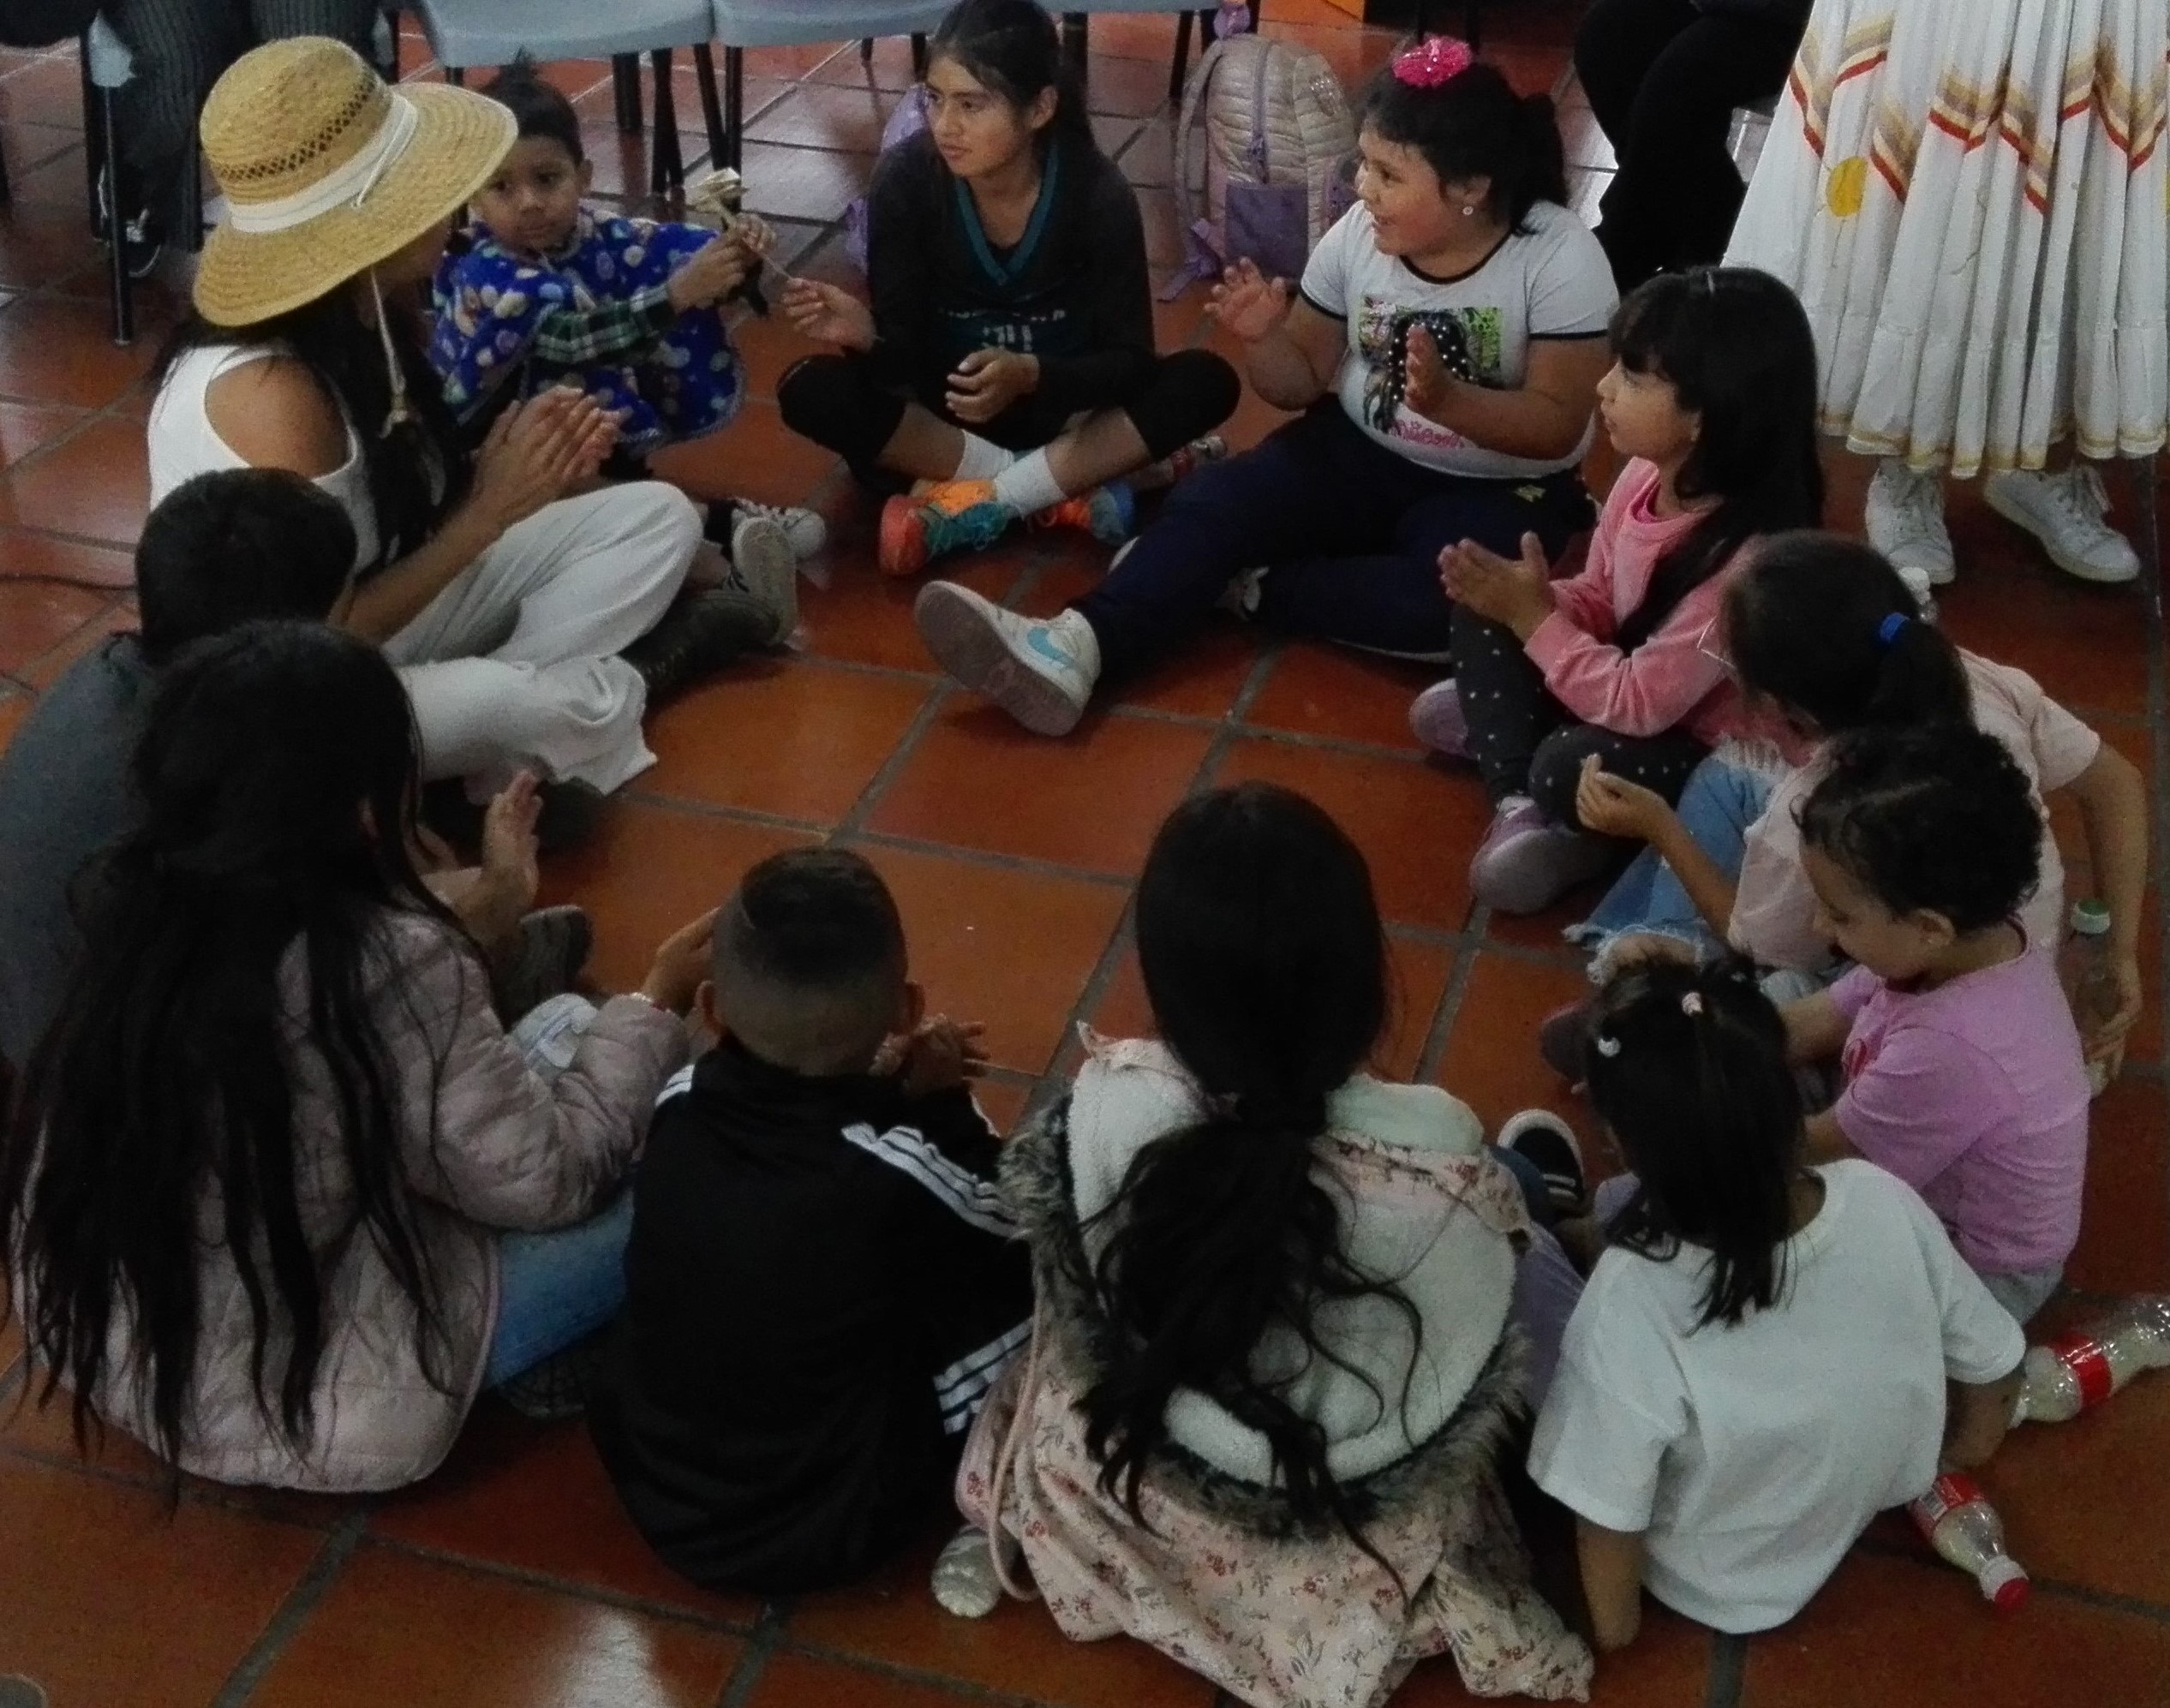
[[[716,237],[590,206],[573,102],[527,59],[482,93],[519,119],[519,141],[436,273],[430,362],[447,408],[480,434],[512,399],[575,384],[618,417],[614,467],[627,469],[725,428],[744,365],[723,304],[760,271],[768,228],[749,217]],[[746,501],[712,506],[707,534],[736,560],[746,521],[781,527],[796,558],[825,543],[812,510]]]

